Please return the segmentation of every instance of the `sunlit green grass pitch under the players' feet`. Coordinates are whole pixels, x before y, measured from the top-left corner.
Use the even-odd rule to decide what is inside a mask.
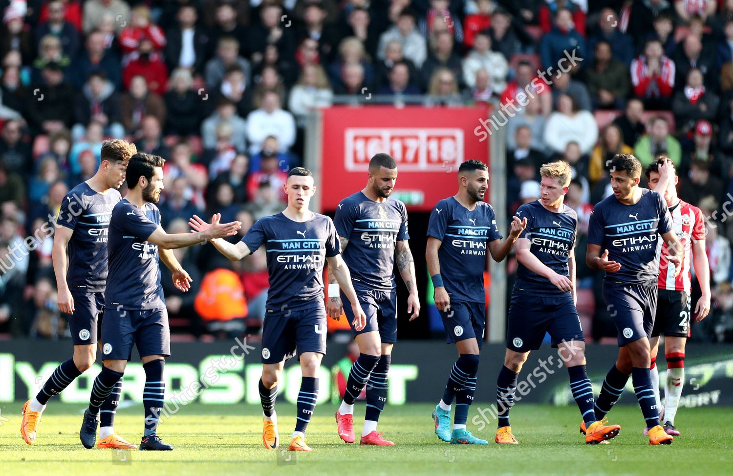
[[[85,450],[78,439],[82,406],[52,401],[43,414],[32,447],[20,434],[22,403],[5,403],[0,412],[0,468],[3,475],[721,475],[732,474],[733,450],[728,408],[680,409],[683,432],[671,446],[650,447],[641,434],[637,406],[618,406],[611,422],[622,425],[611,444],[586,445],[578,433],[578,409],[571,406],[517,405],[512,428],[518,445],[493,443],[495,426],[468,429],[490,440],[488,446],[440,442],[427,404],[388,406],[380,431],[395,447],[360,447],[336,436],[336,406],[316,408],[308,428],[312,453],[287,453],[262,447],[262,417],[255,406],[191,404],[163,420],[158,433],[174,444],[172,452]],[[295,422],[295,407],[278,405],[285,447]],[[361,430],[364,403],[357,403],[355,428]],[[119,410],[115,426],[128,441],[139,442],[142,407]],[[118,454],[119,453],[119,454]],[[292,456],[291,456],[292,455]],[[288,456],[292,459],[287,461]],[[278,461],[278,458],[281,461]],[[123,461],[125,460],[125,461]]]

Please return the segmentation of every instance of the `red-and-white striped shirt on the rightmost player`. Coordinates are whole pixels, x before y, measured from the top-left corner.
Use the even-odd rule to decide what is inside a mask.
[[[690,250],[692,242],[705,238],[705,223],[702,212],[694,205],[679,200],[674,208],[669,209],[674,224],[674,232],[677,234],[682,249],[685,250],[685,257],[682,258],[682,271],[674,277],[674,266],[659,266],[659,282],[658,288],[674,291],[685,291],[690,293],[692,290],[692,271],[690,260]],[[668,255],[667,244],[663,240],[658,241],[657,257]]]

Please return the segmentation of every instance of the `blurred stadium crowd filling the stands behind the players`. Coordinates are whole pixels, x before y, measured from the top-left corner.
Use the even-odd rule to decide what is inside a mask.
[[[0,9],[2,333],[64,333],[44,225],[95,173],[104,138],[166,158],[166,230],[216,211],[242,221],[239,240],[284,208],[310,111],[339,95],[368,104],[374,92],[429,107],[526,102],[504,126],[507,212],[539,197],[541,164],[571,164],[578,305],[596,340],[616,334],[582,259],[592,206],[609,193],[605,164],[616,153],[644,166],[668,155],[679,196],[711,217],[714,310],[693,339],[733,340],[733,0],[0,0]],[[549,73],[570,52],[577,65]],[[259,327],[261,251],[238,263],[212,246],[175,253],[194,282],[181,293],[162,268],[174,330]]]

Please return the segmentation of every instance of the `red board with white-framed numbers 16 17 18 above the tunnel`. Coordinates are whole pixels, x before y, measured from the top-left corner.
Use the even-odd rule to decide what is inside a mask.
[[[409,210],[430,211],[455,194],[461,162],[474,158],[488,164],[490,137],[474,133],[485,117],[485,106],[324,109],[321,209],[335,210],[344,197],[364,188],[369,159],[388,153],[397,161],[394,197]]]

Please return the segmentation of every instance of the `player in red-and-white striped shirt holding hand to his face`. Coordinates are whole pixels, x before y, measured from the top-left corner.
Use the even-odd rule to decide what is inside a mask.
[[[669,435],[679,435],[674,426],[682,385],[685,384],[685,342],[690,337],[690,293],[692,275],[690,262],[700,283],[701,296],[695,307],[695,321],[702,321],[710,312],[710,264],[705,252],[705,225],[702,212],[677,197],[677,181],[674,164],[661,157],[645,170],[649,187],[662,194],[672,217],[674,232],[685,250],[682,271],[674,276],[667,266],[660,268],[658,281],[657,317],[649,345],[652,347],[652,385],[654,395],[664,421],[663,428]],[[690,253],[692,260],[690,260]],[[658,259],[668,255],[666,245],[657,247]],[[664,385],[664,406],[659,401],[659,373],[655,369],[659,336],[664,334],[664,354],[667,360],[667,378]]]

